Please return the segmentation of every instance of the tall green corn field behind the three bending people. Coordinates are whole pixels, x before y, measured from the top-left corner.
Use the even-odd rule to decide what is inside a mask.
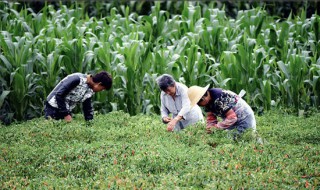
[[[135,2],[132,2],[133,4]],[[183,2],[170,14],[155,2],[148,15],[130,6],[90,17],[81,3],[35,13],[0,1],[0,120],[43,115],[46,96],[74,72],[110,72],[97,112],[159,113],[155,78],[211,84],[239,93],[255,110],[320,107],[320,16],[279,19],[263,7],[229,18],[211,4]]]

